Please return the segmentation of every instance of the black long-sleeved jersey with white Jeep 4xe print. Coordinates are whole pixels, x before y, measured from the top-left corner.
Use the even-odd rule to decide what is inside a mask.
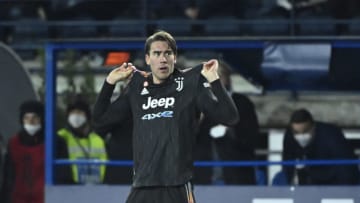
[[[209,84],[201,69],[174,70],[161,84],[153,84],[151,75],[134,73],[112,103],[114,85],[104,83],[94,126],[106,131],[133,119],[133,187],[182,185],[192,178],[200,112],[225,125],[237,121],[236,107],[220,80]]]

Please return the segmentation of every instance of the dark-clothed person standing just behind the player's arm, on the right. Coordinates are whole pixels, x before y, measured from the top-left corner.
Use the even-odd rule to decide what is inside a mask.
[[[220,80],[232,95],[240,121],[233,126],[224,126],[203,118],[195,146],[195,160],[255,160],[255,144],[259,135],[255,107],[247,96],[231,92],[230,74],[229,65],[220,61]],[[194,183],[197,184],[219,181],[224,184],[256,184],[254,167],[197,167],[194,176]]]

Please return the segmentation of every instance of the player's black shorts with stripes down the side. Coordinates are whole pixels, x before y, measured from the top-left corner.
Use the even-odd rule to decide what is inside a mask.
[[[126,203],[195,203],[192,185],[132,188]]]

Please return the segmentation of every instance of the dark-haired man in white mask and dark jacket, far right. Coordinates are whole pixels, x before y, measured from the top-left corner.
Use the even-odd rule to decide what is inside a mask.
[[[314,121],[306,109],[293,112],[283,141],[283,160],[356,159],[342,130],[329,123]],[[283,166],[288,184],[359,184],[356,165]]]

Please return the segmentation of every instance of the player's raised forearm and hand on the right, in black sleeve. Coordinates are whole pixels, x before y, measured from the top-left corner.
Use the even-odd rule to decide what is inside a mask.
[[[206,80],[199,84],[197,105],[205,116],[224,125],[233,125],[239,120],[239,115],[234,101],[220,82],[218,65],[215,59],[203,63],[201,79]]]

